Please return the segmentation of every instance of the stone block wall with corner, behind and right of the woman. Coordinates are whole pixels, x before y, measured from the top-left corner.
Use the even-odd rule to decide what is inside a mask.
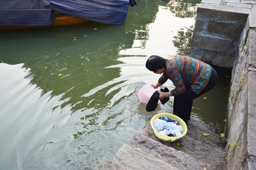
[[[256,1],[203,0],[190,56],[232,68],[227,170],[256,170]]]

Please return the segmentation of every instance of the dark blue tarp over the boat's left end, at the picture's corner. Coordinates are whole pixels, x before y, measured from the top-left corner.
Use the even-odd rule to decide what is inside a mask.
[[[0,0],[0,26],[49,26],[50,0]]]

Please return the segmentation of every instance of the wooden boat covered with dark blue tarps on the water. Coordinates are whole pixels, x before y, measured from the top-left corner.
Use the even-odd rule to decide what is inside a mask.
[[[0,0],[0,29],[90,22],[123,25],[136,0]]]

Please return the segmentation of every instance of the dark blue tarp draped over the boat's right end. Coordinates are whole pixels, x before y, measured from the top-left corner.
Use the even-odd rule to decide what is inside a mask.
[[[111,25],[124,23],[128,7],[129,0],[51,0],[53,11]]]

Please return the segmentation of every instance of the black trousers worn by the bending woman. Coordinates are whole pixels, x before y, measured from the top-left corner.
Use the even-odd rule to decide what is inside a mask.
[[[186,86],[186,91],[183,94],[174,96],[174,115],[180,117],[188,125],[188,120],[190,120],[193,99],[201,96],[202,94],[211,90],[218,82],[218,74],[214,68],[211,70],[210,78],[201,91],[201,93],[196,94],[192,91],[190,85]]]

